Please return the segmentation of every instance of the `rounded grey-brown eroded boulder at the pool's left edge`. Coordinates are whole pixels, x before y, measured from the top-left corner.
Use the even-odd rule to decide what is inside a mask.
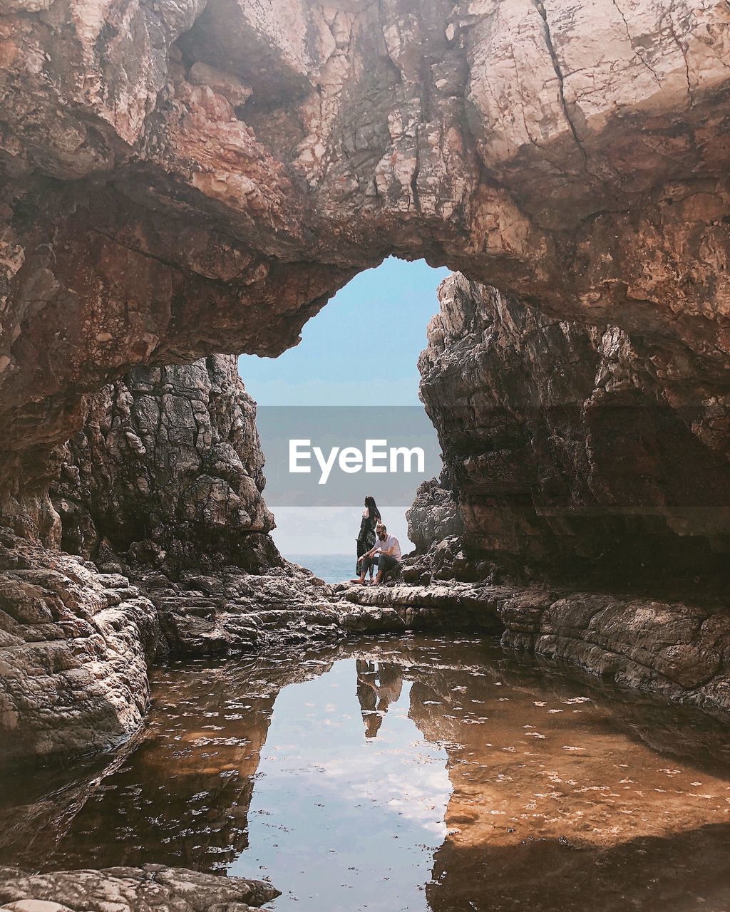
[[[109,750],[140,728],[157,613],[98,574],[0,530],[0,759]]]

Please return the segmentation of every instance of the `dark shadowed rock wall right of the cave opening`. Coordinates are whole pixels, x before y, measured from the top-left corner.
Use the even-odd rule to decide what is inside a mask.
[[[613,586],[721,583],[725,418],[691,362],[616,326],[540,316],[462,275],[439,296],[421,395],[472,560]]]

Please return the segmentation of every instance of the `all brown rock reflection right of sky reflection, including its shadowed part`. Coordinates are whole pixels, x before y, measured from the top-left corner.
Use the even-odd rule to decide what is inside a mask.
[[[617,912],[627,896],[651,912],[725,907],[723,725],[615,689],[609,701],[593,679],[495,661],[475,644],[421,647],[382,644],[370,660],[402,664],[410,717],[448,752],[433,912]]]

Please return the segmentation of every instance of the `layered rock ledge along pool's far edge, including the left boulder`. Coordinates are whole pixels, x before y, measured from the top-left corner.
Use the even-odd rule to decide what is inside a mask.
[[[0,530],[0,727],[5,760],[117,747],[137,731],[147,667],[282,643],[436,630],[502,635],[506,648],[726,714],[730,611],[547,586],[433,582],[328,586],[296,565],[263,575],[137,571],[134,585]]]

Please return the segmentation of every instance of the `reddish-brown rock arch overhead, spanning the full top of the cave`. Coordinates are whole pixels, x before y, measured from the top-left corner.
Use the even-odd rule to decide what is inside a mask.
[[[3,14],[2,491],[26,534],[85,394],[142,363],[276,355],[389,253],[661,342],[725,450],[724,2]]]

